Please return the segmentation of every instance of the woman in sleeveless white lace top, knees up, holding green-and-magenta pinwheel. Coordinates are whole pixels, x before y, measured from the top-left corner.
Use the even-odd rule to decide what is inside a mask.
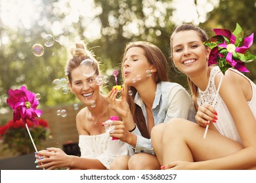
[[[208,67],[206,40],[205,32],[190,24],[180,25],[171,36],[171,57],[188,76],[198,124],[173,119],[152,129],[161,169],[256,169],[256,86],[228,69],[213,107],[223,73]]]

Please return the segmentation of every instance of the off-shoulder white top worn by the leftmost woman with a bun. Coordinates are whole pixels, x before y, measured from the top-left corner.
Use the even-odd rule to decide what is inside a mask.
[[[129,145],[120,140],[112,140],[109,133],[100,135],[79,135],[81,158],[98,159],[106,169],[117,156],[132,156]]]

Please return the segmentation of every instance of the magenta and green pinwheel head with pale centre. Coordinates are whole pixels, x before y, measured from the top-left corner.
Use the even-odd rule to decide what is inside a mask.
[[[245,63],[256,59],[256,56],[248,51],[253,44],[253,33],[249,37],[244,37],[244,31],[239,24],[236,24],[233,33],[228,29],[213,29],[213,31],[216,35],[203,42],[211,48],[208,65],[219,65],[223,74],[230,67],[241,72],[249,72]]]

